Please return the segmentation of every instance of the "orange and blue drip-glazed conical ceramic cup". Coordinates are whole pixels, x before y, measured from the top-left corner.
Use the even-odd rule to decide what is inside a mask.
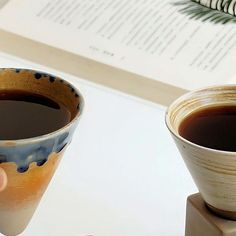
[[[83,99],[76,88],[61,78],[28,69],[0,69],[1,89],[49,97],[64,104],[73,117],[64,127],[46,135],[0,140],[0,167],[8,177],[7,187],[0,193],[0,232],[13,236],[21,233],[29,223],[71,142]]]

